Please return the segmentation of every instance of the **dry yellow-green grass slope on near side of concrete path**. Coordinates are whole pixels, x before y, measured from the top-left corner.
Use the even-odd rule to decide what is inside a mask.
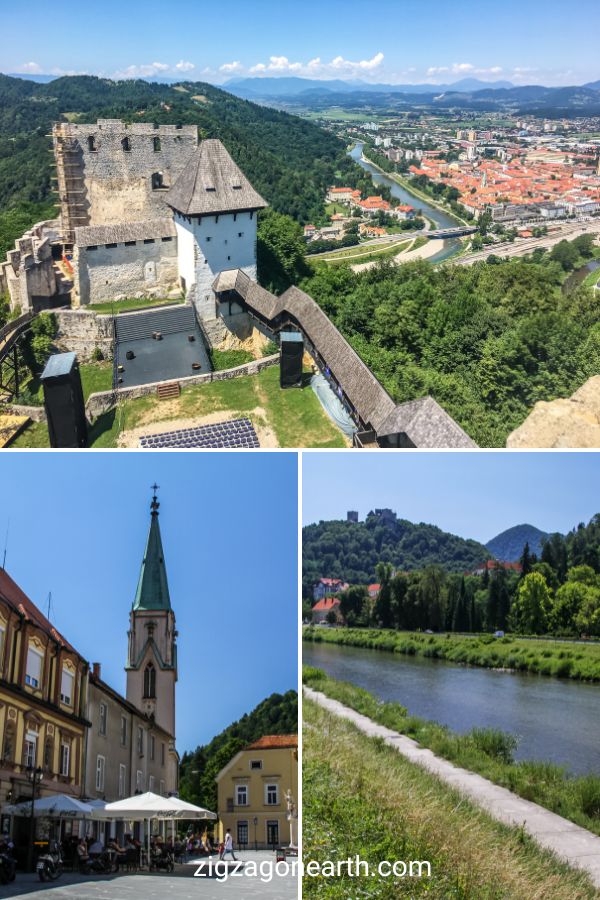
[[[377,738],[303,704],[303,850],[310,860],[428,861],[431,877],[305,876],[302,896],[587,900],[587,876],[508,828]]]

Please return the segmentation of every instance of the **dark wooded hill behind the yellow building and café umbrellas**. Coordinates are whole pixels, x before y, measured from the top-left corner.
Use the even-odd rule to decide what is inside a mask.
[[[298,694],[271,694],[209,744],[184,753],[179,767],[181,797],[205,809],[217,809],[215,777],[246,744],[266,734],[298,733]]]

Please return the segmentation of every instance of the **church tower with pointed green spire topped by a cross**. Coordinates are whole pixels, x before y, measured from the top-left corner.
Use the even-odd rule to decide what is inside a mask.
[[[175,737],[177,646],[154,485],[150,529],[129,614],[127,699]]]

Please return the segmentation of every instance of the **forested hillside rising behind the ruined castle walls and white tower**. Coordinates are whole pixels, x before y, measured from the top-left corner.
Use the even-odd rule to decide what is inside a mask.
[[[0,75],[0,253],[22,232],[15,211],[25,210],[27,224],[51,212],[52,123],[97,118],[198,125],[201,137],[223,141],[275,210],[303,223],[322,214],[334,173],[356,169],[344,144],[311,122],[202,82],[173,86],[86,75],[36,84]]]

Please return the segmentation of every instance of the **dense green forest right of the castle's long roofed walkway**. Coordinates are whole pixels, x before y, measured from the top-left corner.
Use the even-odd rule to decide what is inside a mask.
[[[472,266],[320,266],[302,287],[394,399],[430,394],[478,444],[503,447],[538,400],[600,372],[600,305],[590,288],[563,290],[593,254],[584,235]]]

